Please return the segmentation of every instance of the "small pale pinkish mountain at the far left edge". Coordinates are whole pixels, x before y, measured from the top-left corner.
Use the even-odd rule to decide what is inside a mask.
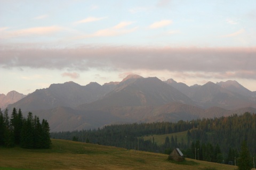
[[[4,109],[9,104],[13,104],[26,96],[17,91],[10,91],[6,95],[0,94],[0,108]]]

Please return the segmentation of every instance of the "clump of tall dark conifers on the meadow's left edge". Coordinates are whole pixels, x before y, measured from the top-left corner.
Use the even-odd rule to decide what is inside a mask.
[[[31,112],[23,117],[21,110],[13,108],[11,118],[6,108],[0,108],[0,146],[22,148],[50,148],[50,127],[46,120],[40,122]]]

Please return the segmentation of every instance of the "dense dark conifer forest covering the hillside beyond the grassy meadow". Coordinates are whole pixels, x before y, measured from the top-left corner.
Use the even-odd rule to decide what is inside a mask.
[[[180,148],[189,158],[217,163],[234,164],[235,157],[243,141],[247,142],[250,154],[256,153],[256,115],[244,113],[229,117],[207,118],[203,120],[133,123],[108,125],[99,129],[54,132],[52,138],[98,143],[99,145],[138,149],[169,154],[174,148]],[[177,137],[166,137],[162,145],[153,139],[143,137],[152,134],[170,134],[186,131],[186,138],[178,142]]]

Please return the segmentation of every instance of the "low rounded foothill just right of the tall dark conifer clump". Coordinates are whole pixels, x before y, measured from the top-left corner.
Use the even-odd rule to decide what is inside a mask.
[[[108,112],[78,111],[70,107],[56,107],[32,112],[41,120],[44,118],[49,122],[51,132],[97,129],[103,125],[121,121],[120,118]]]

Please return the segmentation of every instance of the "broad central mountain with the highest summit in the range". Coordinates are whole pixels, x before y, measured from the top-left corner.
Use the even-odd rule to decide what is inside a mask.
[[[159,106],[178,101],[195,105],[179,90],[169,86],[158,78],[138,76],[125,78],[116,88],[102,99],[79,106],[80,109],[99,109],[121,106]]]

